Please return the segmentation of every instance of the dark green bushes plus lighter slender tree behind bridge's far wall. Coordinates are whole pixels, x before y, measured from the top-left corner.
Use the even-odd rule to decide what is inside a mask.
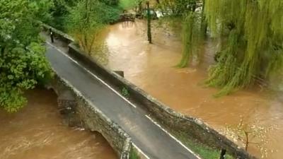
[[[45,23],[69,33],[85,52],[92,54],[103,47],[98,40],[103,27],[118,20],[122,9],[117,0],[54,0],[52,18]]]

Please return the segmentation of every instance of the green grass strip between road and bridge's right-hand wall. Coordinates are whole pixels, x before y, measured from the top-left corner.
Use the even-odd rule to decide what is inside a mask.
[[[220,158],[220,151],[211,148],[209,146],[204,146],[202,143],[194,141],[192,139],[188,139],[185,134],[175,132],[173,133],[182,143],[190,148],[192,151],[200,155],[202,159],[219,159]],[[225,159],[234,159],[231,155],[226,154]]]

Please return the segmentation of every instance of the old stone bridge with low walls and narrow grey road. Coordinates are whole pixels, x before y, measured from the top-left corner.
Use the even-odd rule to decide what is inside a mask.
[[[70,126],[100,132],[120,158],[128,159],[136,151],[147,159],[200,159],[170,133],[172,130],[207,146],[224,148],[235,158],[254,158],[200,119],[174,112],[101,66],[69,44],[74,41],[71,37],[58,30],[54,33],[57,40],[47,40],[46,56],[56,74],[50,87],[58,95],[60,112]],[[122,88],[129,91],[129,97],[122,95]]]

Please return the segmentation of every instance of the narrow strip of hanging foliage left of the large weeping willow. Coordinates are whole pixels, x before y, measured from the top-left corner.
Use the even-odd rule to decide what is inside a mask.
[[[178,67],[186,67],[192,61],[198,63],[200,52],[198,47],[206,37],[207,25],[204,17],[204,11],[196,11],[198,0],[175,0],[160,1],[157,8],[162,11],[163,16],[168,19],[183,18],[182,24],[182,58],[177,64]],[[204,3],[204,1],[202,1]],[[202,6],[203,8],[203,6]],[[164,19],[164,18],[162,18]],[[161,20],[162,20],[161,19]],[[180,23],[180,22],[179,22]],[[178,24],[178,23],[177,23]],[[173,28],[179,28],[174,26]]]

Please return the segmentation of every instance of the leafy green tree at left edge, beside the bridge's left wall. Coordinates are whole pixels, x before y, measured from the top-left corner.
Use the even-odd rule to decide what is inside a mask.
[[[0,107],[16,112],[26,103],[23,91],[52,77],[40,45],[40,11],[28,0],[0,1]]]

